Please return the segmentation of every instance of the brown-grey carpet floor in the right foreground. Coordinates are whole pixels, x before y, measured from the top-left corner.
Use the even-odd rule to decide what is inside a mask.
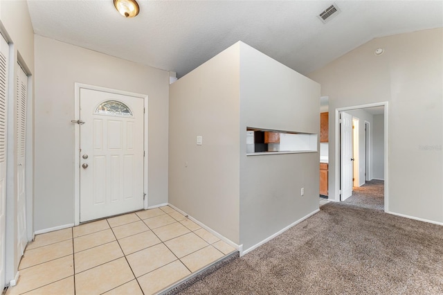
[[[443,294],[443,226],[329,203],[178,294]]]

